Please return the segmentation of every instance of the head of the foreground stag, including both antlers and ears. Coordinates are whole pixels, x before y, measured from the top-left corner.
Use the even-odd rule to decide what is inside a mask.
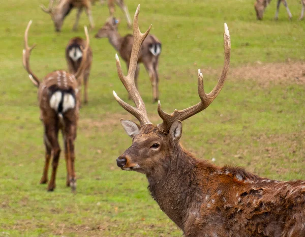
[[[168,162],[166,163],[163,161],[171,159],[173,152],[176,149],[179,149],[179,139],[182,134],[181,122],[207,108],[220,93],[229,70],[231,43],[228,26],[225,24],[225,63],[218,84],[210,93],[206,94],[203,88],[203,76],[200,70],[198,70],[198,94],[201,101],[184,110],[175,110],[171,114],[168,114],[161,109],[159,101],[158,113],[163,120],[163,123],[154,126],[148,119],[145,104],[137,91],[134,82],[139,50],[151,27],[150,26],[144,34],[140,32],[138,26],[139,10],[140,5],[138,6],[134,17],[134,44],[127,76],[123,75],[118,56],[116,55],[118,76],[136,107],[121,100],[115,92],[113,92],[113,95],[118,104],[133,114],[140,124],[138,125],[129,120],[120,121],[127,134],[132,138],[132,145],[116,159],[116,162],[123,170],[135,170],[145,173],[146,175],[152,175],[155,172],[160,172],[165,169]]]

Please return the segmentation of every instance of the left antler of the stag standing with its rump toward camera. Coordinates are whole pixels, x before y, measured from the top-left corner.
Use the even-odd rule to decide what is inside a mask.
[[[28,40],[27,40],[27,33],[29,30],[29,27],[32,24],[32,20],[30,20],[27,24],[27,27],[25,29],[25,33],[24,33],[24,49],[23,49],[23,55],[22,55],[22,63],[23,63],[23,67],[25,68],[25,70],[28,73],[29,79],[31,79],[31,81],[38,87],[40,84],[40,81],[38,79],[38,77],[32,72],[31,68],[29,67],[29,56],[31,56],[31,51],[32,49],[35,48],[36,44],[33,45],[32,47],[28,46]]]

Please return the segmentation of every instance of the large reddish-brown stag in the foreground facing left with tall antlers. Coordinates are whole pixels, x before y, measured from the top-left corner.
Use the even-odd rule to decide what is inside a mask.
[[[180,227],[185,236],[305,236],[305,181],[279,182],[249,173],[242,168],[218,167],[196,159],[179,143],[182,121],[204,110],[218,96],[228,75],[230,35],[225,24],[225,62],[214,89],[206,94],[198,71],[200,102],[168,114],[158,103],[163,120],[150,123],[145,104],[135,86],[137,57],[150,27],[138,28],[139,7],[134,17],[134,45],[128,75],[116,67],[133,107],[113,95],[120,106],[133,114],[140,125],[121,120],[132,145],[116,162],[123,170],[134,170],[147,177],[151,196],[162,211]]]

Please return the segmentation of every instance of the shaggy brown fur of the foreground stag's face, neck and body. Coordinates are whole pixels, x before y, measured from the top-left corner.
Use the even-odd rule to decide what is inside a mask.
[[[305,236],[305,181],[265,179],[198,160],[154,125],[119,158],[145,173],[151,196],[185,236]],[[152,143],[160,151],[152,154]],[[118,159],[119,159],[118,158]]]

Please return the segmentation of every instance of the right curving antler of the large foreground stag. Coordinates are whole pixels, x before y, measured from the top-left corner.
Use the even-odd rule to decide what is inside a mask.
[[[162,124],[158,124],[158,128],[163,133],[168,133],[171,125],[175,121],[184,121],[188,119],[189,117],[195,115],[196,113],[199,113],[200,111],[204,110],[209,106],[210,103],[218,96],[220,93],[222,87],[224,86],[224,82],[227,78],[228,71],[229,71],[229,65],[230,65],[230,49],[231,49],[231,40],[230,40],[230,33],[227,24],[225,23],[225,33],[224,33],[224,48],[225,48],[225,62],[222,74],[218,80],[217,85],[214,87],[214,89],[208,93],[205,94],[204,87],[203,87],[203,76],[200,70],[198,70],[198,94],[201,99],[201,102],[199,102],[196,105],[193,105],[189,108],[186,108],[184,110],[175,110],[173,113],[168,114],[164,112],[161,109],[161,103],[158,102],[158,113],[161,119],[163,120]]]

